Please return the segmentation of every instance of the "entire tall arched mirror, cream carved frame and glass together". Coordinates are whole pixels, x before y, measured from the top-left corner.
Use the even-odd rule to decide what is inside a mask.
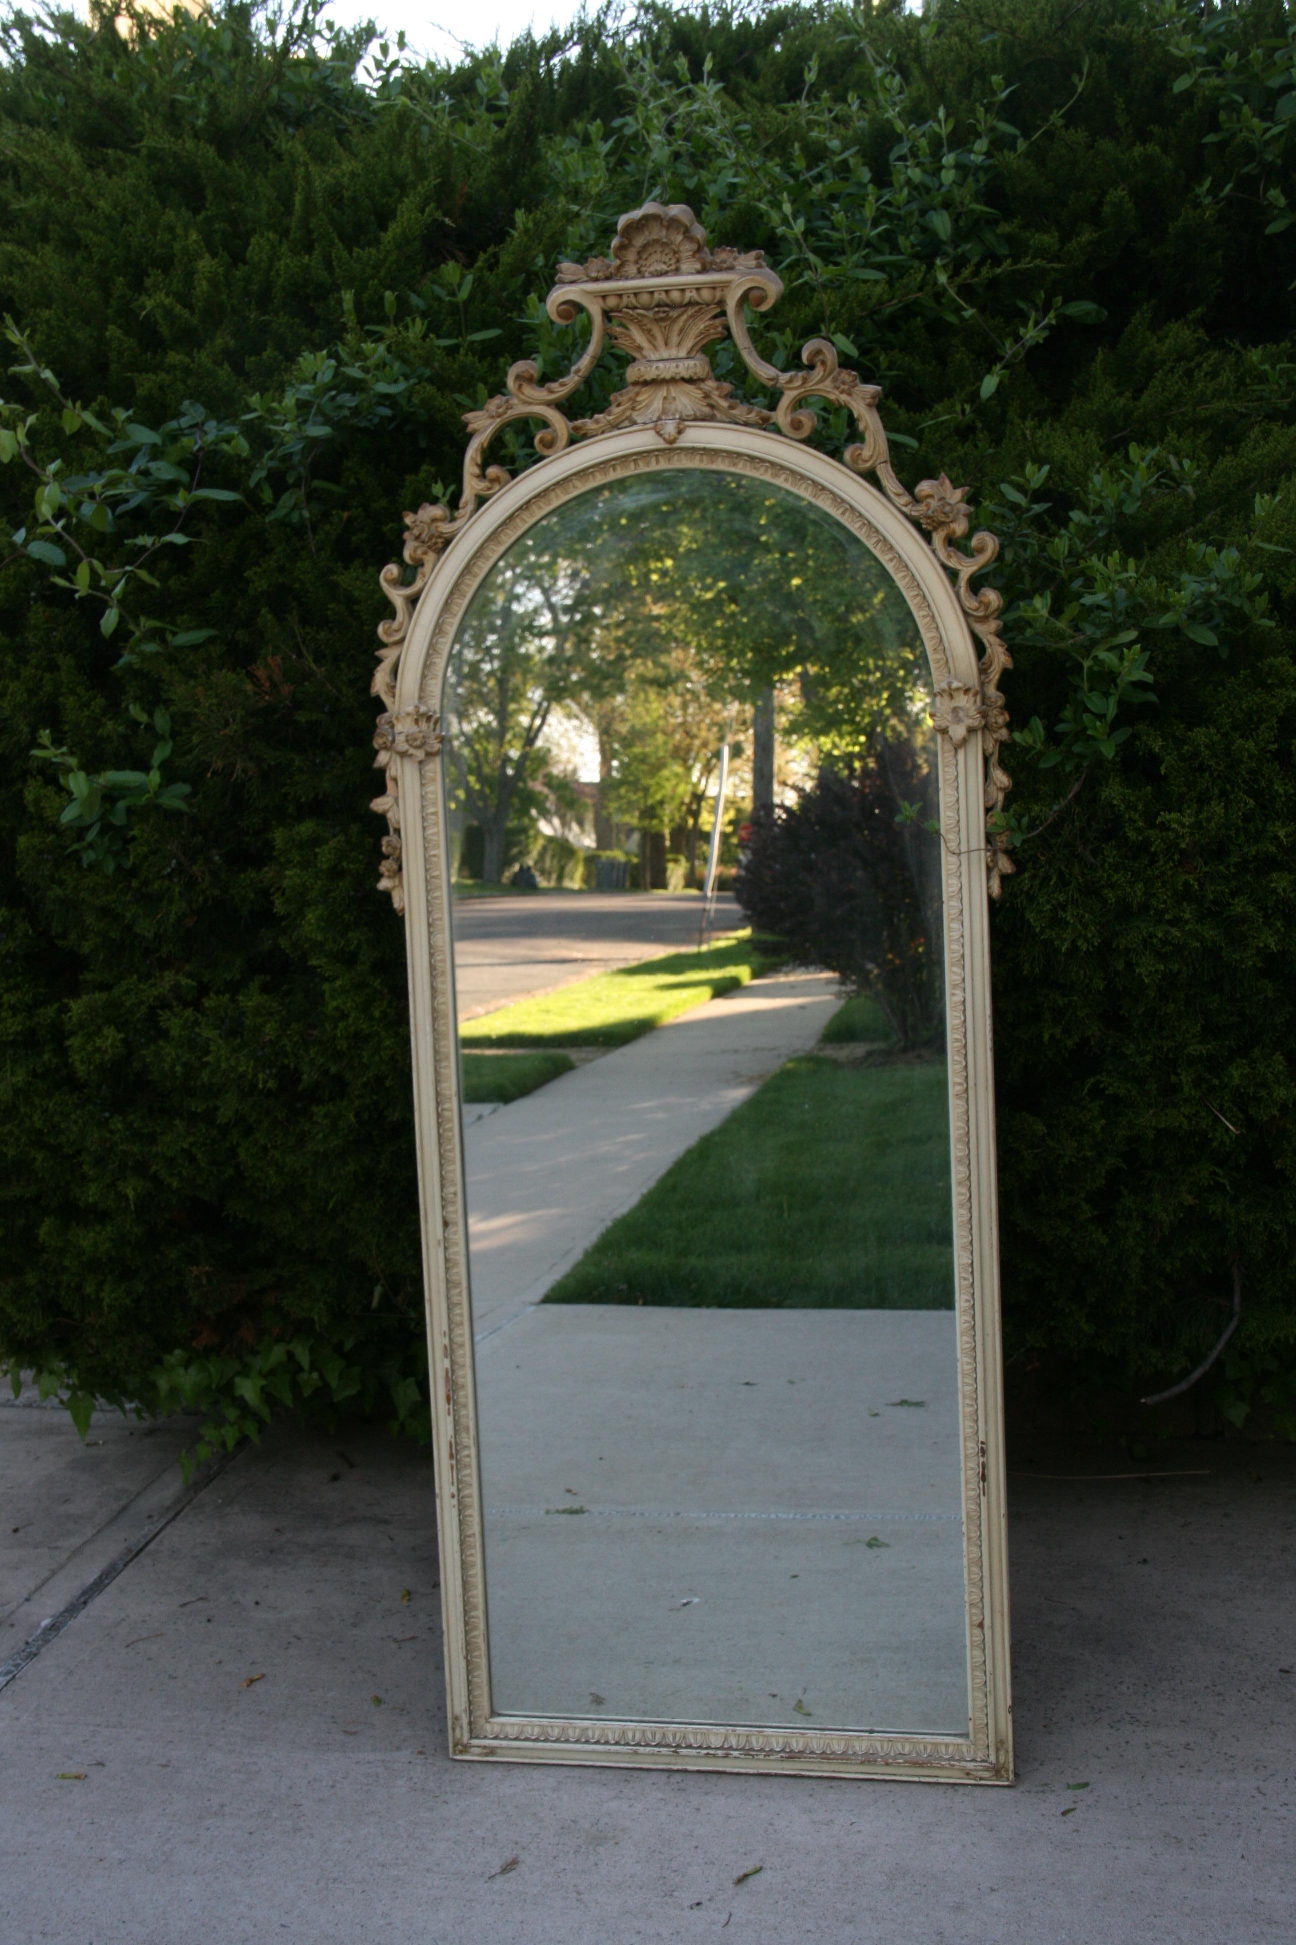
[[[622,218],[383,574],[451,1741],[1008,1782],[997,543],[781,288]]]

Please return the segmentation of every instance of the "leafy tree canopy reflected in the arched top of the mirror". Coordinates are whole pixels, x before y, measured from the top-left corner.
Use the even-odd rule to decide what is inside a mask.
[[[569,500],[478,589],[447,687],[459,807],[486,832],[540,803],[562,702],[600,751],[600,815],[696,858],[725,725],[781,696],[781,735],[849,768],[927,689],[900,589],[836,517],[748,475],[680,469]],[[767,704],[766,704],[767,706]]]

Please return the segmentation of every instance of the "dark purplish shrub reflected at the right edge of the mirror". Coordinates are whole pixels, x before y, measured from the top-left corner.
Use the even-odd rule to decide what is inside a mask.
[[[900,1046],[923,1046],[944,1025],[938,838],[900,823],[927,790],[898,743],[853,774],[822,770],[795,807],[754,815],[734,885],[752,926],[872,994]]]

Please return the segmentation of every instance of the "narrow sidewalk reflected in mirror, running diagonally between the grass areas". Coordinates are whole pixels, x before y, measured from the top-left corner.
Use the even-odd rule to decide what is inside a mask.
[[[828,972],[752,980],[464,1128],[478,1336],[536,1303],[837,1004]]]

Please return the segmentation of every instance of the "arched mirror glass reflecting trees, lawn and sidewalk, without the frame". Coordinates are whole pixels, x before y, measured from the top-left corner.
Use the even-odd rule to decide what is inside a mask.
[[[913,615],[740,471],[478,587],[443,724],[497,1715],[968,1733]]]

